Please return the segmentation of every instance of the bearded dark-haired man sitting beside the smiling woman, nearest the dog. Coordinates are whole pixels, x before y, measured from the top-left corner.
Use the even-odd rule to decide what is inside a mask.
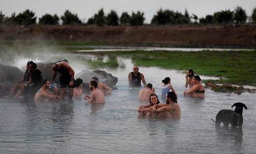
[[[153,112],[157,112],[158,117],[171,117],[179,119],[181,117],[180,105],[177,103],[177,96],[170,91],[166,94],[166,104],[159,103],[153,106]]]

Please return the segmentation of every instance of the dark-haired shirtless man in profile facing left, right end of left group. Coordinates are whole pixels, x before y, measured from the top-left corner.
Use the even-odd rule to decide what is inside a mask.
[[[97,87],[98,83],[96,81],[90,81],[90,88],[92,90],[91,96],[88,94],[85,95],[85,100],[87,100],[88,103],[105,103],[104,94]]]

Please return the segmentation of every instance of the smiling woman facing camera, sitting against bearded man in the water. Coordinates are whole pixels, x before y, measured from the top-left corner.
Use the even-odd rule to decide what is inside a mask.
[[[159,104],[157,95],[154,93],[149,96],[149,104],[141,105],[137,109],[139,116],[152,116],[153,105]],[[157,113],[156,113],[157,114]],[[156,115],[157,116],[157,115]]]

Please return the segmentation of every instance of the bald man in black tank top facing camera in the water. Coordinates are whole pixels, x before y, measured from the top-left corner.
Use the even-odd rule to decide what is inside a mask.
[[[128,80],[129,80],[130,87],[141,87],[142,86],[141,80],[142,80],[142,83],[146,88],[147,83],[145,81],[145,78],[143,74],[139,72],[139,67],[136,65],[133,66],[133,72],[130,72],[128,74]]]

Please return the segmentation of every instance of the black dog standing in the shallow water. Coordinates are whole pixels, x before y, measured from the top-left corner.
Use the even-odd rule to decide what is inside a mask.
[[[247,107],[243,103],[234,103],[231,107],[236,106],[235,111],[232,110],[220,110],[216,115],[215,126],[220,127],[220,123],[223,122],[224,127],[228,127],[228,123],[231,127],[239,127],[242,129],[242,109],[243,107],[247,110]]]

